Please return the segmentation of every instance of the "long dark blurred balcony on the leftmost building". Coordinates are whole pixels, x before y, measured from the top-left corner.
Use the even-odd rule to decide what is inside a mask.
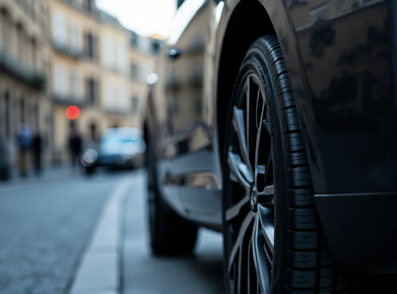
[[[13,76],[34,90],[44,91],[46,88],[47,79],[44,74],[28,70],[4,51],[0,52],[0,72]]]

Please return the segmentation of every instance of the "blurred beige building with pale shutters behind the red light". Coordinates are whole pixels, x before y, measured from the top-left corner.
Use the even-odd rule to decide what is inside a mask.
[[[50,0],[53,42],[51,87],[56,158],[67,158],[67,136],[75,126],[86,143],[113,126],[128,126],[128,31],[97,9],[94,0]],[[80,115],[66,118],[76,105]]]

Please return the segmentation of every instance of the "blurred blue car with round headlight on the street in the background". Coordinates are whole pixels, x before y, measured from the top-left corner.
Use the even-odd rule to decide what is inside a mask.
[[[89,148],[81,156],[87,174],[97,167],[131,168],[143,164],[145,143],[136,128],[110,128],[101,138],[99,147]]]

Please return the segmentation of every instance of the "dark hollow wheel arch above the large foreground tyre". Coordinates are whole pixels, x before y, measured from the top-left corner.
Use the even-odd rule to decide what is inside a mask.
[[[223,166],[223,134],[234,80],[251,44],[265,34],[276,35],[265,7],[258,0],[241,0],[228,20],[220,51],[216,90],[216,123],[219,158]],[[233,82],[230,82],[233,81]]]

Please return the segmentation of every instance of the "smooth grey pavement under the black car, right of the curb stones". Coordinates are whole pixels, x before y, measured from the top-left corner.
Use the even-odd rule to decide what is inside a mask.
[[[144,174],[126,199],[124,294],[223,294],[222,237],[202,229],[192,258],[159,258],[149,248]]]

